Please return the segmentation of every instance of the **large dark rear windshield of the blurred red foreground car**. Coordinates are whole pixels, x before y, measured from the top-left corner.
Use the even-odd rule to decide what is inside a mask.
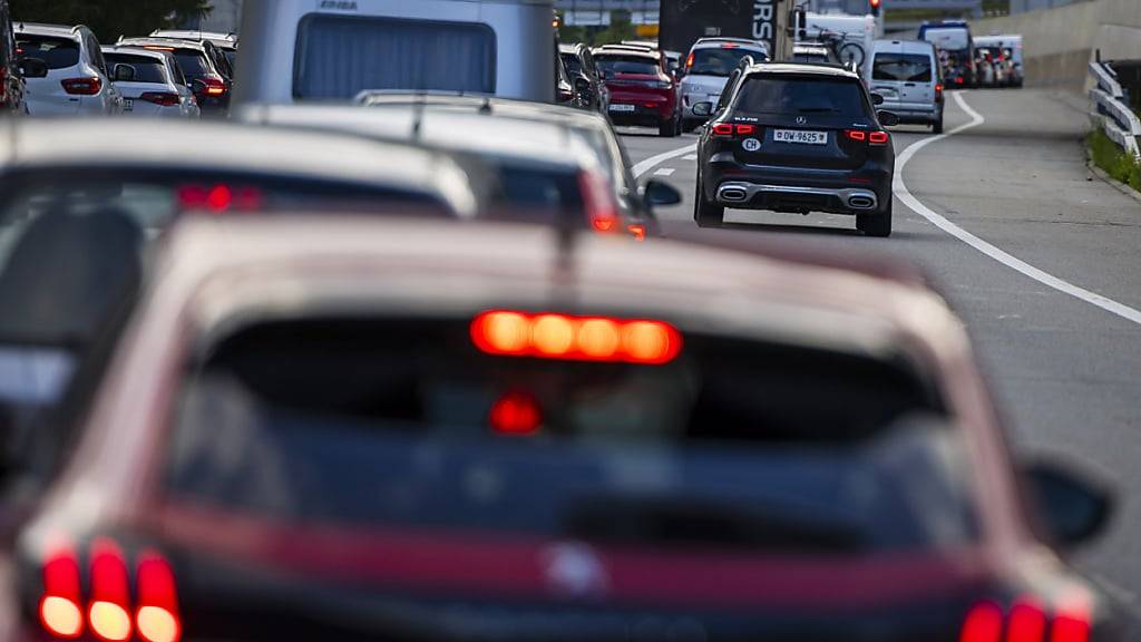
[[[900,363],[702,335],[659,366],[494,356],[478,332],[313,318],[203,342],[171,417],[167,500],[706,551],[974,537],[960,434],[914,419],[941,404]]]

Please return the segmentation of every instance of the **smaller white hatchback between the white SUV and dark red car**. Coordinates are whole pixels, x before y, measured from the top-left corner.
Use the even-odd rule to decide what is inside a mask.
[[[104,47],[103,57],[123,95],[123,113],[161,118],[202,114],[178,61],[169,51]]]

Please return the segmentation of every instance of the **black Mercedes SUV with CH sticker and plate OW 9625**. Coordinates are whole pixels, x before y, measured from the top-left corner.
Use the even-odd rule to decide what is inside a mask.
[[[839,65],[745,64],[698,143],[694,219],[720,226],[725,208],[856,216],[869,236],[891,234],[896,153],[884,126],[898,117]]]

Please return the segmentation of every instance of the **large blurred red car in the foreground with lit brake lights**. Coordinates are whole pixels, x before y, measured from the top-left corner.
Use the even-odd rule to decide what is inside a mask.
[[[1117,639],[1030,525],[1104,498],[1018,472],[914,283],[330,217],[183,219],[154,273],[5,640]]]

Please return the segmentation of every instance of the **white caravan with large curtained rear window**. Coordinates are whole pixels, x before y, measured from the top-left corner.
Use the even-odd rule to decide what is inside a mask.
[[[246,0],[237,105],[364,90],[555,99],[551,0]]]

